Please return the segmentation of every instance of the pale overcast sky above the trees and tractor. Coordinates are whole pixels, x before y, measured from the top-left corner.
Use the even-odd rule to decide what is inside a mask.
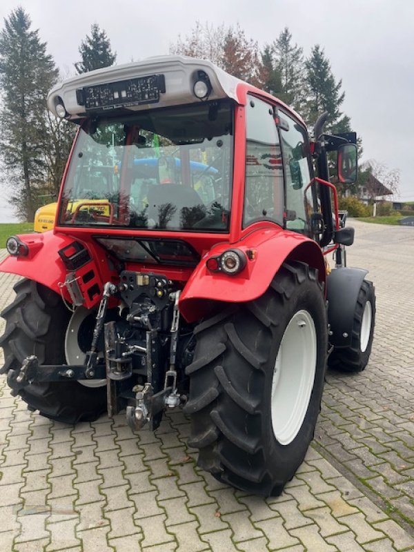
[[[414,200],[414,2],[408,0],[1,0],[0,25],[22,6],[63,73],[73,73],[92,23],[106,30],[117,63],[168,53],[195,21],[239,23],[259,42],[284,27],[307,56],[319,43],[342,79],[342,106],[362,137],[364,159],[401,171],[400,198]],[[397,199],[397,198],[395,198]],[[8,208],[1,206],[0,222]]]

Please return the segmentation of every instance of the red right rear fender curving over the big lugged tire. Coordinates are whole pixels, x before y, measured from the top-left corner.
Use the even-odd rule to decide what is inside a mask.
[[[237,275],[213,273],[206,267],[210,257],[221,255],[227,249],[237,248],[251,259]],[[255,230],[237,244],[217,244],[195,268],[181,293],[179,308],[187,322],[206,315],[210,302],[242,303],[253,301],[263,295],[277,270],[287,259],[306,262],[319,271],[319,280],[325,282],[326,270],[321,248],[308,237],[283,230],[266,228]]]

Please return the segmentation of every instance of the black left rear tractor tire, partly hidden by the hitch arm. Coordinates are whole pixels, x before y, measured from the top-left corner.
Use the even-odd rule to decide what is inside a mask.
[[[36,355],[39,364],[64,364],[65,336],[70,312],[55,292],[29,279],[14,286],[16,298],[1,316],[6,331],[0,337],[5,363],[0,373],[19,370],[23,359]],[[92,422],[106,411],[106,388],[90,388],[78,382],[31,384],[19,394],[32,411],[51,420],[75,424]]]

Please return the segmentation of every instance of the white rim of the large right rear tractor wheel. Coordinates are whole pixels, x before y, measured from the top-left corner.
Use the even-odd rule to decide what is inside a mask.
[[[273,433],[280,444],[291,443],[302,427],[315,380],[317,336],[308,311],[298,311],[282,338],[272,380]]]

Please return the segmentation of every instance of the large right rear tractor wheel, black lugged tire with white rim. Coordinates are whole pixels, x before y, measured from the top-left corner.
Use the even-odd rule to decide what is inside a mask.
[[[285,263],[262,297],[202,322],[196,335],[185,411],[199,466],[238,489],[279,495],[320,410],[327,322],[317,271]]]

